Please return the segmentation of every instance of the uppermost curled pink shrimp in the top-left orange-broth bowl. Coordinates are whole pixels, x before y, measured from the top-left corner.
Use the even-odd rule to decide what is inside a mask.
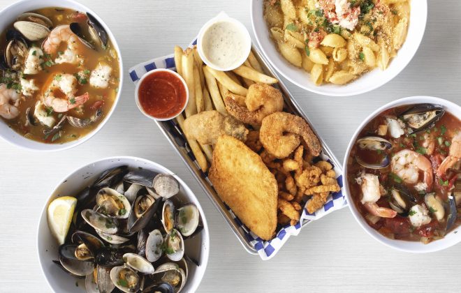
[[[67,43],[67,48],[63,54],[54,60],[54,63],[78,64],[80,62],[79,45],[81,45],[81,42],[67,24],[54,28],[45,42],[43,42],[42,47],[45,53],[56,54],[61,43]]]

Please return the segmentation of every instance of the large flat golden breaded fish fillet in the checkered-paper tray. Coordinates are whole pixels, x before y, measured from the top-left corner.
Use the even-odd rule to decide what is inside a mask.
[[[221,200],[249,229],[270,240],[277,227],[277,181],[261,157],[240,140],[221,135],[214,146],[210,180]]]

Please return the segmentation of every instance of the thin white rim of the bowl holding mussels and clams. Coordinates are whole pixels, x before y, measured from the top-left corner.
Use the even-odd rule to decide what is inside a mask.
[[[189,188],[189,186],[187,186],[186,183],[184,181],[182,181],[182,179],[179,176],[177,176],[174,172],[171,172],[168,168],[163,167],[163,165],[160,165],[159,163],[152,162],[152,160],[146,160],[144,158],[138,158],[138,157],[133,157],[133,156],[114,156],[114,157],[101,158],[99,160],[95,160],[95,161],[92,161],[90,163],[86,163],[85,165],[81,165],[80,167],[76,168],[73,172],[67,174],[67,176],[64,176],[64,178],[61,181],[59,181],[59,183],[53,188],[52,193],[50,193],[50,196],[47,197],[47,200],[46,200],[45,204],[43,205],[42,212],[40,213],[40,219],[38,220],[37,238],[36,238],[37,239],[36,250],[37,250],[38,262],[40,263],[40,269],[41,269],[41,272],[42,272],[43,276],[45,277],[45,280],[46,280],[48,286],[54,292],[54,288],[51,286],[50,282],[48,281],[47,274],[43,270],[43,263],[42,263],[42,260],[41,260],[40,250],[39,250],[39,247],[38,247],[38,241],[39,241],[40,236],[41,236],[41,234],[40,234],[41,220],[43,218],[45,218],[45,220],[46,220],[46,218],[47,218],[47,215],[46,215],[47,206],[48,206],[51,198],[54,197],[54,193],[56,193],[56,190],[59,188],[59,186],[61,186],[61,184],[64,181],[66,181],[66,179],[73,176],[73,174],[79,172],[80,170],[84,169],[85,167],[87,167],[89,165],[99,163],[99,162],[102,162],[102,161],[106,161],[106,160],[118,160],[118,159],[127,159],[127,160],[135,160],[135,161],[138,160],[138,161],[140,161],[142,163],[146,163],[147,165],[151,165],[153,167],[156,167],[159,170],[163,170],[163,172],[165,172],[167,174],[171,174],[171,175],[175,176],[175,179],[177,179],[177,181],[180,182],[180,186],[182,188],[184,188],[185,192],[188,195],[190,195],[191,197],[196,199],[196,201],[198,203],[197,207],[198,207],[198,210],[200,211],[200,216],[202,218],[203,229],[206,230],[205,241],[204,242],[207,243],[207,249],[205,250],[206,253],[203,255],[203,262],[200,263],[200,266],[203,266],[203,275],[200,276],[200,280],[198,280],[198,282],[196,282],[195,286],[192,288],[192,292],[196,292],[198,286],[200,285],[200,283],[203,280],[203,276],[205,276],[205,272],[207,271],[208,259],[210,257],[210,230],[208,228],[208,222],[207,222],[207,219],[205,217],[205,213],[203,212],[202,206],[200,205],[200,201],[198,200],[196,195],[192,192],[192,190]]]

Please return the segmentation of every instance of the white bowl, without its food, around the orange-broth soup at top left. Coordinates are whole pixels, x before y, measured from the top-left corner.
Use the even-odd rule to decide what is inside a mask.
[[[72,147],[78,146],[78,144],[82,144],[86,142],[90,138],[93,137],[101,128],[103,128],[104,124],[109,120],[110,116],[117,107],[117,103],[119,101],[120,94],[122,93],[122,84],[123,84],[123,63],[122,63],[122,54],[119,50],[119,45],[117,45],[117,40],[115,40],[114,35],[108,28],[108,26],[101,20],[100,17],[93,10],[83,6],[82,4],[75,2],[73,0],[22,0],[3,8],[0,11],[0,31],[3,31],[9,24],[11,24],[18,15],[21,13],[36,10],[39,8],[45,7],[64,7],[64,8],[71,8],[73,10],[78,10],[82,12],[89,12],[91,13],[96,19],[103,25],[105,31],[108,32],[109,38],[112,41],[112,45],[114,46],[115,50],[117,50],[117,55],[119,57],[119,91],[117,93],[117,97],[115,98],[114,105],[110,109],[104,118],[101,121],[96,129],[94,129],[91,133],[88,133],[84,137],[74,140],[73,142],[66,142],[64,144],[45,144],[43,142],[36,142],[35,140],[29,140],[26,137],[18,134],[15,130],[8,127],[8,125],[0,119],[0,137],[11,144],[16,145],[17,147],[22,147],[24,149],[29,149],[31,151],[61,151],[64,149],[71,149]]]

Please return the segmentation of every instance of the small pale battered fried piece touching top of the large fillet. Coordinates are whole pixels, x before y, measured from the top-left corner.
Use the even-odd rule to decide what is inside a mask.
[[[200,144],[214,144],[219,135],[231,135],[244,142],[248,132],[242,122],[214,110],[200,112],[184,120],[186,137]]]

